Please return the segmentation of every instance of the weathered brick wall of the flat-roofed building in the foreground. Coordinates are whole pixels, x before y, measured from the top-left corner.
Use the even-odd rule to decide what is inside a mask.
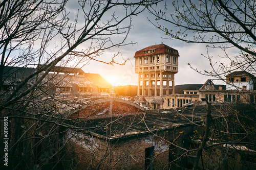
[[[169,149],[173,148],[174,159],[183,151],[168,141],[175,141],[182,148],[184,139],[193,134],[195,129],[196,126],[187,125],[159,131],[159,136],[147,133],[111,141],[79,132],[75,138],[68,140],[66,150],[70,153],[65,155],[63,164],[69,165],[66,169],[71,166],[75,169],[95,169],[97,166],[99,169],[144,169],[145,149],[154,146],[154,169],[169,169]],[[67,160],[72,160],[73,165]],[[185,161],[179,159],[176,163],[182,166]]]

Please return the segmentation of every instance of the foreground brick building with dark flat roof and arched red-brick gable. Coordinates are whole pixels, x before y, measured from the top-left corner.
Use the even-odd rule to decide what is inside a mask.
[[[221,105],[212,107],[212,120],[219,117],[220,109],[222,114],[227,114],[224,108]],[[203,134],[201,124],[205,112],[206,105],[145,111],[120,99],[94,101],[70,114],[72,119],[79,120],[74,126],[89,130],[67,131],[62,140],[67,151],[63,165],[66,169],[190,169],[195,155],[188,150],[199,147],[196,136]],[[249,150],[243,150],[246,151]],[[209,150],[205,152],[207,155]],[[218,164],[222,169],[229,169],[226,164],[233,155],[227,156],[221,150],[218,154],[216,160],[204,158],[207,166],[214,168]],[[218,162],[218,158],[223,161]],[[247,158],[240,156],[239,160],[255,167]]]

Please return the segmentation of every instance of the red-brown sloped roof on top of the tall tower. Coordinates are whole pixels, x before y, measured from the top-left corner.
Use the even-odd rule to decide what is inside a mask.
[[[171,50],[171,52],[167,52],[166,48],[169,48]],[[144,54],[144,51],[148,51],[148,50],[155,50],[155,52]],[[170,54],[170,55],[173,55],[173,56],[179,56],[179,52],[177,50],[175,50],[175,51],[177,51],[177,53],[173,53],[174,50],[175,50],[174,48],[162,43],[162,44],[151,45],[151,46],[145,47],[142,50],[137,51],[135,53],[134,57],[157,55],[157,54],[163,54],[163,53]]]

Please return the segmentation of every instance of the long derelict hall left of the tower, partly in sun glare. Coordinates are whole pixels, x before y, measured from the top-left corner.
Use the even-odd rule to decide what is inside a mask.
[[[40,67],[41,65],[39,65]],[[36,71],[36,68],[5,67],[4,68],[4,89],[14,90],[15,86],[24,78]],[[27,83],[31,86],[35,78]],[[99,74],[86,73],[80,68],[55,66],[42,82],[42,87],[56,95],[73,96],[112,96],[113,86]]]

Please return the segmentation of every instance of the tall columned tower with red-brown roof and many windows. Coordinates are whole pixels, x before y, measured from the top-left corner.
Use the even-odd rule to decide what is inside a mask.
[[[151,45],[135,53],[138,95],[163,96],[174,93],[179,53],[165,44]]]

